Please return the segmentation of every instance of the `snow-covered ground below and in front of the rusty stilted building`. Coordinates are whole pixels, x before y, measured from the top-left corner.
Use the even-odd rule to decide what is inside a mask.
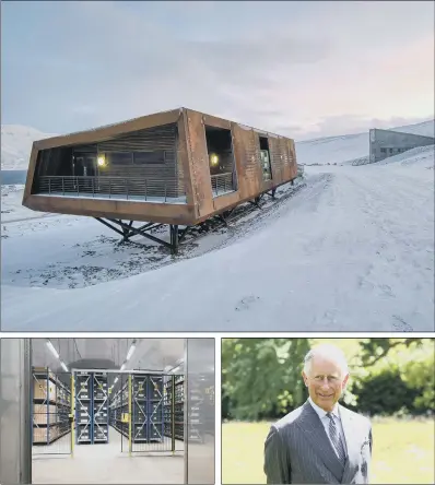
[[[306,167],[277,204],[175,258],[91,218],[2,217],[3,329],[433,331],[430,153]]]

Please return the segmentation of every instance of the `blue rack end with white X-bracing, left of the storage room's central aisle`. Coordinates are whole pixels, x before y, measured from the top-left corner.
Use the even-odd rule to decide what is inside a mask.
[[[107,372],[75,372],[75,441],[108,442]]]

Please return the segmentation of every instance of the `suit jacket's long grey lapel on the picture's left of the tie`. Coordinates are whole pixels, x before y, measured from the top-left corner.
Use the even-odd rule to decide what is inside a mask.
[[[304,431],[304,436],[310,442],[313,450],[317,452],[327,469],[333,474],[337,482],[340,483],[343,465],[333,451],[325,427],[309,401],[304,404],[301,417],[296,421],[296,424]]]

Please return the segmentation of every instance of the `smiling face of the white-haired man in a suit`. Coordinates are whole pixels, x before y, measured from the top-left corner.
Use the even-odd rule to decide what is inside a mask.
[[[314,356],[308,372],[302,372],[309,397],[322,410],[329,412],[340,399],[349,374],[343,375],[339,363],[325,356]]]

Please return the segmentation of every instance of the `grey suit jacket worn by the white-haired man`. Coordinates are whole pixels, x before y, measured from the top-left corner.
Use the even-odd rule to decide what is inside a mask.
[[[318,414],[307,401],[270,428],[264,443],[267,483],[368,483],[371,422],[342,405],[339,409],[348,446],[345,465],[338,459]]]

